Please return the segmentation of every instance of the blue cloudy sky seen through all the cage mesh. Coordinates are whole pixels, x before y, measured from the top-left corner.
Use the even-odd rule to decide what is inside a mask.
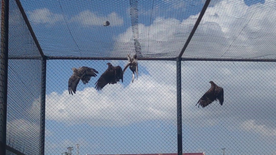
[[[134,53],[129,1],[22,0],[21,3],[47,56],[125,57],[127,53]],[[15,3],[11,4],[14,7]],[[142,53],[167,52],[171,57],[176,56],[203,4],[204,1],[193,0],[138,1]],[[275,11],[273,4],[276,2],[212,1],[184,56],[275,58],[275,44],[271,41],[275,37],[271,32],[276,31],[273,22],[276,14],[271,13]],[[30,34],[27,31],[15,33],[27,30],[20,24],[22,18],[16,17],[17,12],[13,10],[11,16],[14,19],[11,25],[19,24],[10,28],[10,37],[16,38],[10,44],[10,53],[37,55],[35,44],[23,46],[30,44],[31,39],[27,37]],[[107,18],[111,26],[103,27],[102,22]],[[22,48],[13,46],[18,40],[24,43]],[[47,61],[45,154],[60,154],[77,143],[81,144],[81,154],[176,153],[175,62],[139,61],[138,80],[135,77],[131,83],[128,69],[123,83],[96,91],[94,84],[107,68],[107,62],[121,67],[126,63]],[[38,81],[32,75],[39,70],[39,63],[21,63],[32,73],[25,76],[29,80],[21,79],[21,82],[36,85]],[[77,93],[71,96],[67,90],[68,78],[72,74],[71,67],[79,66],[95,68],[99,74],[87,85],[80,83]],[[10,66],[14,71],[19,67]],[[21,74],[24,73],[16,73],[18,77]],[[275,63],[182,62],[184,152],[216,155],[225,147],[226,154],[275,154],[274,75]],[[211,80],[224,88],[225,103],[197,108],[195,103],[209,89]],[[14,128],[26,124],[21,133],[9,133],[24,133],[22,140],[39,140],[35,133],[39,122],[23,119],[23,112],[31,120],[38,118],[36,89],[26,92],[34,101],[23,107],[22,112],[18,111],[15,120],[8,119]]]

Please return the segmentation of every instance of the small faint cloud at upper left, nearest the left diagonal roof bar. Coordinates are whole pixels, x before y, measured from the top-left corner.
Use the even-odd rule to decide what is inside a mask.
[[[48,8],[35,9],[28,12],[29,20],[33,24],[54,24],[55,22],[64,20],[61,14],[55,14]]]

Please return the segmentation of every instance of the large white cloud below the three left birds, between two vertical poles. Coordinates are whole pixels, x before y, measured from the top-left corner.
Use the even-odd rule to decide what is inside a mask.
[[[164,65],[162,72],[175,71],[172,63]],[[175,86],[156,81],[154,76],[160,73],[149,73],[140,75],[125,88],[119,83],[107,85],[100,92],[93,86],[88,87],[74,96],[69,95],[68,90],[61,95],[52,92],[46,96],[46,119],[69,122],[68,125],[86,122],[92,126],[128,125],[149,119],[174,120]],[[130,75],[125,74],[124,82],[129,78]],[[160,104],[164,99],[168,104]]]

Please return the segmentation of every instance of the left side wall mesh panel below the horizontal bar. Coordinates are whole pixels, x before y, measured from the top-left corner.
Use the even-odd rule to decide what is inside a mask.
[[[9,60],[7,145],[40,154],[41,60]]]

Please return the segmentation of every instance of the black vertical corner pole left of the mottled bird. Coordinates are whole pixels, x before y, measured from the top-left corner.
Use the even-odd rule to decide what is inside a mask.
[[[44,155],[45,148],[46,62],[46,57],[43,57],[41,60],[40,155]]]

